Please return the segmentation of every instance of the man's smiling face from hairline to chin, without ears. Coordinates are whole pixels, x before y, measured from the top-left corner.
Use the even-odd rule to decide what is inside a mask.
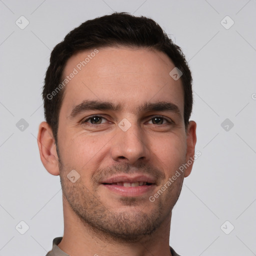
[[[166,188],[191,156],[181,79],[169,75],[174,64],[162,52],[128,47],[91,52],[71,56],[63,72],[77,70],[59,113],[63,196],[84,224],[133,240],[170,216],[189,174],[184,171]],[[86,65],[79,65],[88,54]],[[67,178],[71,170],[73,181],[80,175],[75,182]]]

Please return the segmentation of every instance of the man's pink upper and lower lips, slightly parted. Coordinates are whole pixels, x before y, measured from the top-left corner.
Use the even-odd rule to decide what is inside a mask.
[[[129,183],[134,183],[134,182],[147,182],[150,183],[148,185],[141,185],[141,186],[130,186],[130,187],[125,187],[122,185],[117,185],[117,184],[111,184],[111,183],[117,183],[117,182],[129,182]],[[148,192],[152,192],[152,190],[155,188],[155,178],[147,175],[115,175],[112,177],[109,177],[107,179],[104,179],[103,181],[100,182],[101,185],[107,189],[108,191],[110,190],[111,192],[114,192],[115,194],[118,194],[120,196],[139,196],[143,195]]]

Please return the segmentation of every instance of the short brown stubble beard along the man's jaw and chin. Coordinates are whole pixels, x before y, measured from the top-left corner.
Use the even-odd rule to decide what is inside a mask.
[[[70,182],[66,177],[68,170],[64,168],[60,161],[59,170],[64,199],[85,228],[89,228],[93,235],[106,241],[119,240],[133,243],[151,236],[164,219],[170,216],[171,209],[180,193],[179,190],[178,194],[172,194],[173,184],[172,187],[168,188],[169,190],[164,192],[165,194],[163,193],[154,202],[151,202],[155,205],[150,212],[146,212],[145,208],[144,210],[143,208],[139,209],[140,199],[137,197],[123,197],[120,199],[122,205],[128,205],[134,210],[111,211],[100,200],[97,189],[90,191],[84,186],[81,178],[75,183]],[[171,196],[176,197],[172,205],[167,202]]]

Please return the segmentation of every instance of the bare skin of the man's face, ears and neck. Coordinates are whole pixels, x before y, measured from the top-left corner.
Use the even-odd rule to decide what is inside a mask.
[[[171,210],[192,164],[154,202],[148,198],[194,155],[196,123],[190,121],[185,130],[181,79],[170,77],[174,64],[162,52],[129,47],[98,50],[65,86],[57,135],[59,157],[50,127],[46,122],[39,126],[41,161],[49,173],[60,175],[63,192],[64,234],[58,246],[72,256],[171,255]],[[64,76],[91,51],[71,56]],[[83,100],[123,107],[84,111],[70,118],[72,108]],[[146,101],[174,103],[181,115],[138,111]],[[103,118],[84,122],[94,114]],[[163,119],[154,121],[159,115]],[[123,118],[131,124],[126,131],[118,126]],[[67,178],[72,169],[80,175],[74,183]],[[156,178],[152,190],[142,195],[121,196],[99,183],[113,174],[137,172]]]

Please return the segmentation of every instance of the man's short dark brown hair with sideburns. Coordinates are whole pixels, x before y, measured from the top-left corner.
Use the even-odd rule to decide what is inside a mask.
[[[60,106],[63,99],[62,88],[54,97],[52,91],[63,80],[63,69],[74,53],[104,46],[137,46],[155,49],[169,56],[181,70],[184,89],[184,123],[187,127],[192,111],[192,77],[185,56],[180,47],[168,38],[162,28],[151,18],[136,17],[126,12],[114,12],[87,20],[70,31],[58,43],[50,55],[42,91],[44,116],[52,129],[57,143],[57,129]]]

